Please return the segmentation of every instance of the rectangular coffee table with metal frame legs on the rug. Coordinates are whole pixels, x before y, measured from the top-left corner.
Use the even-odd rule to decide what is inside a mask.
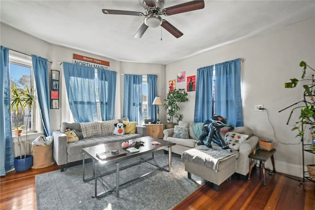
[[[95,195],[93,197],[98,198],[98,197],[101,197],[103,195],[106,195],[109,192],[113,193],[116,197],[119,197],[119,187],[120,186],[126,185],[130,182],[136,181],[140,178],[143,178],[147,175],[150,175],[150,174],[156,172],[157,170],[163,170],[166,172],[171,171],[171,159],[172,159],[171,146],[174,146],[175,143],[170,142],[170,141],[166,141],[166,140],[156,139],[153,137],[141,137],[141,138],[133,139],[132,141],[139,141],[139,140],[144,141],[145,143],[143,146],[139,147],[139,152],[136,152],[136,153],[127,152],[126,149],[122,148],[122,143],[124,142],[124,140],[112,142],[112,143],[100,144],[97,146],[91,146],[91,147],[86,147],[86,148],[82,149],[82,152],[83,152],[83,181],[87,182],[87,181],[90,181],[93,179],[95,180]],[[152,141],[158,141],[160,144],[153,145]],[[168,148],[168,151],[169,151],[168,152],[168,164],[167,165],[158,166],[157,164],[153,164],[153,163],[149,162],[149,160],[154,159],[154,152],[155,151],[158,151],[158,150],[161,150],[164,148]],[[97,153],[107,152],[107,151],[114,150],[114,149],[119,149],[120,153],[114,154],[114,155],[112,155],[112,157],[109,157],[109,158],[106,158],[103,160],[99,159],[96,156]],[[120,162],[127,160],[127,159],[130,159],[130,158],[133,158],[133,157],[136,157],[136,156],[147,154],[147,153],[152,153],[152,157],[150,157],[148,159],[142,159],[141,158],[140,161],[137,161],[135,163],[132,163],[132,164],[129,164],[129,165],[126,165],[126,166],[120,168],[120,166],[119,166]],[[92,158],[92,160],[93,160],[93,175],[90,177],[87,177],[87,178],[85,177],[85,157],[86,157],[86,155],[89,158]],[[141,164],[144,162],[150,163],[151,165],[155,166],[156,169],[151,171],[151,172],[148,172],[144,175],[140,175],[138,177],[135,177],[135,178],[133,178],[133,179],[131,179],[125,183],[119,183],[119,172],[121,170],[130,168],[132,166],[135,166],[135,165],[138,165],[138,164]],[[116,163],[116,170],[108,171],[108,172],[105,172],[103,174],[97,175],[97,171],[98,171],[97,167],[99,167],[98,163],[101,163],[101,165],[109,165],[109,164]],[[165,169],[165,168],[168,168],[168,169]],[[105,186],[108,188],[108,190],[97,193],[97,177],[109,175],[109,174],[112,174],[115,172],[116,172],[116,186],[112,187],[112,186],[109,186],[108,184],[105,184]]]

